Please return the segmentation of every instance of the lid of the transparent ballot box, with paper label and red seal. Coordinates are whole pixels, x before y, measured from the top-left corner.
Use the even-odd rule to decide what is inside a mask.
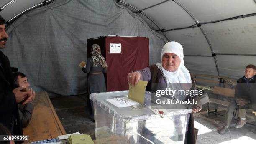
[[[163,111],[156,111],[155,105],[151,105],[151,93],[145,91],[144,105],[117,107],[111,104],[108,99],[114,98],[128,98],[128,91],[112,91],[103,93],[92,93],[90,99],[94,103],[94,111],[101,109],[104,113],[114,116],[120,121],[143,121],[148,119],[157,119],[159,117],[167,116],[172,117],[181,114],[188,114],[192,109],[164,109]]]

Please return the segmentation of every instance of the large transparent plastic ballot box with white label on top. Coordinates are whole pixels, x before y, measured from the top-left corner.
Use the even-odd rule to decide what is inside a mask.
[[[131,101],[128,91],[90,94],[95,114],[96,144],[184,144],[191,109],[153,106],[148,91],[143,105],[118,107],[109,102],[115,98]]]

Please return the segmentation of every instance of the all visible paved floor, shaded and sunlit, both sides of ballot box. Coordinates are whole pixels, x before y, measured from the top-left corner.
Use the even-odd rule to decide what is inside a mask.
[[[85,113],[87,95],[79,96],[56,96],[51,102],[64,126],[67,134],[79,131],[80,133],[90,134],[95,139],[94,123]],[[225,109],[219,110],[225,114]],[[231,132],[225,135],[218,133],[224,125],[224,116],[210,114],[206,117],[206,111],[203,109],[200,113],[195,114],[195,127],[199,129],[197,144],[242,144],[244,142],[256,144],[256,134],[253,133],[254,126],[246,124],[243,128],[236,129],[234,125],[230,127]],[[254,122],[253,116],[248,116],[250,121]]]

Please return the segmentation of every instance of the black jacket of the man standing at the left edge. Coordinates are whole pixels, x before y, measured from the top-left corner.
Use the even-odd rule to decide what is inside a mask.
[[[7,56],[0,51],[0,123],[13,135],[23,135],[18,115],[18,104],[13,93],[13,73]],[[12,129],[13,128],[13,129]]]

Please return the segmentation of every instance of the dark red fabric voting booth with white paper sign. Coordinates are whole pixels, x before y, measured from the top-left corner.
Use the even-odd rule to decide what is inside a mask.
[[[146,37],[107,36],[87,39],[87,58],[94,43],[102,46],[101,52],[108,64],[105,76],[107,91],[128,90],[127,74],[148,66],[149,40]],[[115,46],[120,46],[120,49],[114,51]]]

